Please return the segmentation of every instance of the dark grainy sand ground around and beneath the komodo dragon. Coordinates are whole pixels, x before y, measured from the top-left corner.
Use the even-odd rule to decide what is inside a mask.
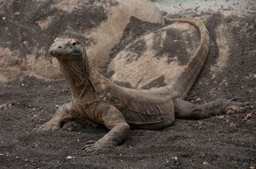
[[[211,22],[206,23],[213,42],[213,27],[218,24],[219,17],[219,14],[212,15]],[[255,20],[247,21],[255,30]],[[138,20],[134,22],[140,23]],[[156,26],[158,28],[159,25]],[[141,29],[143,31],[138,36],[147,32],[147,26]],[[234,41],[234,44],[239,45],[230,50],[233,57],[227,60],[224,71],[215,74],[217,84],[210,79],[212,73],[209,67],[216,62],[219,50],[211,46],[204,68],[188,95],[188,101],[199,97],[203,99],[201,103],[204,103],[216,98],[239,97],[241,102],[248,101],[256,106],[256,79],[253,78],[253,74],[256,74],[253,52],[255,31],[239,36],[242,38]],[[223,79],[226,79],[228,85],[219,85]],[[25,87],[21,87],[21,83]],[[49,85],[52,88],[48,88]],[[15,79],[0,83],[0,105],[12,104],[12,107],[0,109],[0,168],[256,167],[255,108],[249,110],[252,117],[247,121],[243,119],[249,112],[199,121],[177,119],[172,126],[162,130],[131,130],[117,147],[84,153],[80,149],[85,143],[103,137],[108,132],[106,127],[79,117],[57,131],[32,132],[38,124],[52,117],[56,105],[70,102],[71,99],[65,80],[42,81],[24,77],[23,82]],[[33,115],[39,117],[31,119]],[[202,126],[199,126],[199,122],[202,122]],[[231,122],[236,127],[231,127]],[[72,131],[68,131],[68,128]],[[75,158],[68,159],[68,156]],[[173,157],[177,157],[177,160]],[[208,164],[203,165],[204,161]]]

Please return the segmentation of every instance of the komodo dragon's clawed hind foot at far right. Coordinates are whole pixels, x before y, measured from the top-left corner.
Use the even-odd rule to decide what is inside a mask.
[[[223,114],[232,115],[235,113],[244,113],[247,109],[250,109],[251,106],[248,106],[249,103],[241,103],[241,102],[234,102],[237,98],[232,98],[227,101],[227,104],[224,107]]]

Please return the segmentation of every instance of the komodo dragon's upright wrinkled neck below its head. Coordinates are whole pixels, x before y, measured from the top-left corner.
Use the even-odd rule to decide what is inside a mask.
[[[99,86],[100,83],[97,83],[97,81],[102,82],[104,78],[92,67],[87,58],[85,48],[83,56],[76,60],[57,59],[60,64],[60,70],[68,81],[75,102],[87,105],[103,97],[100,95],[102,85]],[[97,79],[96,82],[95,79]]]

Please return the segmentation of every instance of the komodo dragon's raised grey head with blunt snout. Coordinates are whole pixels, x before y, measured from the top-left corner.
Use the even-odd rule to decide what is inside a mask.
[[[76,60],[81,58],[85,51],[83,43],[77,39],[56,38],[50,46],[49,53],[57,59]]]

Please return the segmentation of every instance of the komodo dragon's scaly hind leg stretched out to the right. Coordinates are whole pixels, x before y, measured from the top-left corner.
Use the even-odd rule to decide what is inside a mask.
[[[175,118],[180,119],[204,119],[210,116],[216,116],[222,114],[235,114],[244,113],[247,109],[251,108],[248,106],[248,102],[233,102],[236,99],[230,99],[225,101],[218,99],[213,102],[208,102],[202,105],[194,105],[190,102],[176,98],[173,100]]]

